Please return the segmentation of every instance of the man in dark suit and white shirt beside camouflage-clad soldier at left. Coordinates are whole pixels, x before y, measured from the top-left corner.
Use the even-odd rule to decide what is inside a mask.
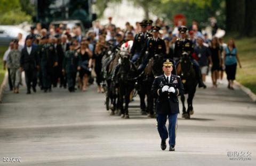
[[[32,46],[32,41],[32,36],[27,38],[26,46],[22,49],[20,58],[21,71],[25,71],[27,94],[31,93],[31,83],[33,91],[36,92],[37,69],[39,68],[37,50]]]

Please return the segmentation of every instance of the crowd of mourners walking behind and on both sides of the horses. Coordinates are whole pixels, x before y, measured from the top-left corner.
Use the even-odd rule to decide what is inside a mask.
[[[4,54],[4,69],[9,73],[9,87],[14,93],[19,93],[22,85],[21,72],[25,72],[27,94],[37,91],[37,86],[44,92],[51,92],[52,88],[64,88],[69,92],[86,91],[87,86],[95,81],[97,92],[103,92],[101,83],[101,59],[110,46],[118,46],[125,41],[134,40],[135,34],[140,32],[140,22],[133,26],[125,23],[125,29],[116,27],[112,18],[109,23],[93,22],[93,27],[82,33],[81,27],[68,28],[64,24],[50,25],[42,28],[41,23],[31,27],[26,40],[22,40],[19,33],[17,39],[10,42]],[[147,30],[157,25],[159,38],[164,39],[166,54],[173,57],[175,41],[179,38],[178,25],[170,27],[161,19],[151,21]],[[214,37],[216,29],[209,39],[207,33],[202,33],[196,21],[188,28],[187,37],[193,41],[193,58],[199,63],[202,79],[211,71],[212,84],[217,88],[222,83],[223,72],[226,71],[229,81],[228,88],[234,90],[236,66],[239,67],[235,41],[230,39],[224,43],[222,38]],[[74,54],[75,53],[75,54]]]

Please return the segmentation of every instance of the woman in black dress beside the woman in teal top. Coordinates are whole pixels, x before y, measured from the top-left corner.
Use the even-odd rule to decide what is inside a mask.
[[[211,41],[211,56],[212,56],[212,84],[217,88],[217,80],[219,78],[219,69],[221,65],[220,47],[218,38],[214,37]]]

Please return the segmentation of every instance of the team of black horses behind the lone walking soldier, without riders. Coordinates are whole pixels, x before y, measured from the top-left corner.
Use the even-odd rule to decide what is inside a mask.
[[[110,115],[118,115],[121,118],[129,119],[129,103],[139,92],[140,104],[145,103],[147,96],[147,113],[154,115],[154,98],[151,94],[151,86],[156,76],[162,75],[162,64],[164,55],[154,55],[148,61],[143,71],[138,71],[138,63],[131,62],[130,49],[132,41],[127,41],[122,46],[109,47],[102,57],[102,87],[106,95],[106,109]],[[185,96],[181,96],[182,117],[189,119],[193,115],[193,98],[196,92],[197,80],[193,65],[188,54],[182,54],[177,68],[173,71],[181,77],[188,94],[188,108],[185,108]],[[141,95],[140,92],[144,92]],[[143,112],[142,112],[143,115]],[[154,118],[154,116],[148,116]]]

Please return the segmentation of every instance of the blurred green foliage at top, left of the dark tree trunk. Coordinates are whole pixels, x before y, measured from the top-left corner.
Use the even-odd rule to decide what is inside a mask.
[[[183,14],[186,16],[187,25],[191,25],[193,20],[197,20],[203,26],[209,22],[209,18],[214,16],[218,20],[218,24],[225,24],[225,5],[222,0],[162,0],[153,5],[152,11],[165,20],[173,21],[175,14]]]

